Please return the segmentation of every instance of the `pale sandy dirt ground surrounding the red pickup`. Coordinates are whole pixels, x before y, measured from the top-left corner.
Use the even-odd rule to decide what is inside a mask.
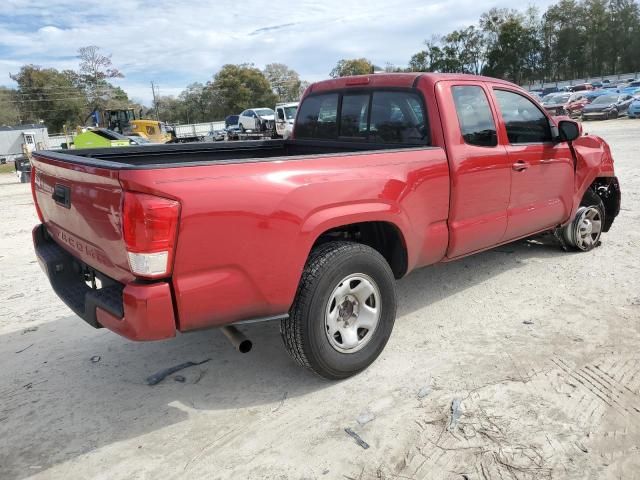
[[[137,344],[87,326],[34,260],[28,186],[1,175],[0,478],[640,478],[640,121],[586,129],[623,188],[602,246],[414,272],[380,359],[337,383],[294,366],[277,324],[245,329],[248,355],[217,331]]]

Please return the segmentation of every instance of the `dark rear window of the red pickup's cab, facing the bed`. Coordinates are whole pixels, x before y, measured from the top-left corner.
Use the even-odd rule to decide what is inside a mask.
[[[422,96],[416,90],[345,90],[310,95],[296,119],[299,139],[429,145]]]

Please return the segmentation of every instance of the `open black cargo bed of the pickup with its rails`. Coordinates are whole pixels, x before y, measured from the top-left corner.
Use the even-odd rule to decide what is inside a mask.
[[[316,140],[262,140],[229,143],[144,145],[127,148],[54,150],[40,156],[64,162],[115,170],[156,169],[271,160],[300,159],[304,156],[345,155],[374,150],[429,148],[424,145],[373,144]]]

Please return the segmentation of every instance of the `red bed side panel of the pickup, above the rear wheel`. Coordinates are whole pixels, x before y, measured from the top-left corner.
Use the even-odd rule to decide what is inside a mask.
[[[395,224],[410,268],[439,260],[447,246],[440,148],[131,170],[120,179],[126,190],[181,203],[172,277],[181,330],[288,311],[311,246],[341,225]]]

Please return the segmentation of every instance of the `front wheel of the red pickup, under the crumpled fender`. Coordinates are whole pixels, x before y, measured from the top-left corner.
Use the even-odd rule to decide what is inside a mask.
[[[575,218],[562,228],[562,239],[574,250],[593,250],[600,243],[604,215],[602,199],[593,190],[587,190]]]

